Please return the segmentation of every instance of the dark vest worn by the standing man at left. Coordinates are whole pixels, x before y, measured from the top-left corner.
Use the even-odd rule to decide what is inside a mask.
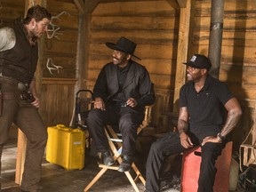
[[[3,76],[30,84],[36,71],[38,46],[29,44],[27,30],[21,22],[13,29],[16,43],[11,50],[0,52],[0,72]]]

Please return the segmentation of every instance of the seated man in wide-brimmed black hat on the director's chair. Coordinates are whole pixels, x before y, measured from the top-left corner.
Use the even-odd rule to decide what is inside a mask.
[[[123,162],[118,171],[131,169],[135,152],[137,127],[144,117],[144,108],[155,101],[153,83],[145,67],[132,60],[135,43],[121,36],[117,44],[106,43],[113,50],[113,60],[106,64],[93,89],[94,108],[88,115],[88,127],[95,147],[106,165],[115,164],[109,151],[105,124],[116,124],[122,133]]]

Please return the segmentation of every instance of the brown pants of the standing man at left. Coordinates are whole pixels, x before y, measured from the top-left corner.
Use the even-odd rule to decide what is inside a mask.
[[[13,92],[19,96],[17,85],[1,83],[2,92]],[[41,164],[47,141],[47,132],[38,111],[28,101],[17,99],[3,100],[2,116],[0,116],[0,156],[4,144],[8,140],[8,132],[12,123],[16,124],[27,137],[27,151],[22,175],[21,188],[36,191],[41,178]]]

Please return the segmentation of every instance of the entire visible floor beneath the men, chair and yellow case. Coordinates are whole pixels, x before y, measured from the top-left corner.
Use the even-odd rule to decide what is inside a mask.
[[[2,192],[20,192],[20,188],[15,184],[15,164],[16,164],[16,147],[17,141],[5,146],[2,156]],[[162,192],[178,192],[180,191],[180,168],[181,168],[181,156],[177,156],[174,160],[172,168],[166,168],[167,171],[163,175]],[[145,176],[145,163],[147,157],[145,155],[136,155],[135,162],[142,173]],[[95,151],[86,150],[85,162],[83,170],[66,170],[63,167],[50,164],[44,158],[42,165],[42,180],[40,185],[43,187],[41,192],[83,192],[84,188],[89,184],[93,177],[100,171],[97,164],[97,157]],[[142,183],[138,183],[140,191],[144,191],[145,187]],[[91,192],[132,192],[131,183],[127,179],[124,173],[108,170],[105,174],[96,182]],[[243,188],[237,188],[236,192],[251,192],[253,190],[245,190]],[[235,192],[235,191],[233,191]]]

